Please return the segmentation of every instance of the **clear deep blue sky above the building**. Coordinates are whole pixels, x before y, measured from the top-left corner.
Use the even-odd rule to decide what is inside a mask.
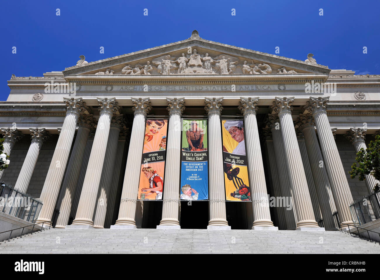
[[[379,1],[20,0],[0,7],[0,101],[12,74],[42,76],[75,65],[79,55],[105,59],[187,39],[194,29],[206,40],[271,54],[279,46],[278,55],[300,60],[311,52],[330,69],[380,74]]]

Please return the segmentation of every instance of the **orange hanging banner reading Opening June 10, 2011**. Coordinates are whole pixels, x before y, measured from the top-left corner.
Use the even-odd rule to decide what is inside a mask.
[[[138,200],[162,200],[168,120],[147,119]]]

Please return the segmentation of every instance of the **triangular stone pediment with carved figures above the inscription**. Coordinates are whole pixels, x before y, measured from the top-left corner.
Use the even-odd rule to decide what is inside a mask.
[[[327,66],[204,40],[184,41],[66,68],[67,75],[328,74]],[[310,62],[311,61],[311,62]]]

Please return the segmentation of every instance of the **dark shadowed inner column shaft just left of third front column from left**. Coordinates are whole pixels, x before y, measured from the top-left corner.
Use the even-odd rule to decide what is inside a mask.
[[[120,134],[123,134],[123,131]],[[119,188],[119,179],[120,179],[120,172],[121,172],[121,166],[122,166],[122,160],[123,160],[124,146],[125,146],[125,136],[123,136],[122,138],[119,138],[119,141],[117,141],[117,152],[116,152],[116,158],[115,158],[115,163],[114,163],[114,176],[112,177],[111,191],[110,191],[109,199],[107,201],[107,213],[106,213],[106,220],[105,220],[106,228],[111,226],[112,219],[114,218],[116,195],[117,195],[117,190]]]

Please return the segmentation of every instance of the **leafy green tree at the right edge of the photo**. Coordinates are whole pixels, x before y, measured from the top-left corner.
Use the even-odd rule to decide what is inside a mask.
[[[380,135],[375,137],[375,141],[370,141],[367,150],[361,148],[356,153],[355,160],[358,165],[354,163],[350,171],[351,178],[359,175],[359,180],[366,179],[366,175],[371,174],[376,180],[380,180]],[[379,184],[374,186],[374,191],[380,190]]]

